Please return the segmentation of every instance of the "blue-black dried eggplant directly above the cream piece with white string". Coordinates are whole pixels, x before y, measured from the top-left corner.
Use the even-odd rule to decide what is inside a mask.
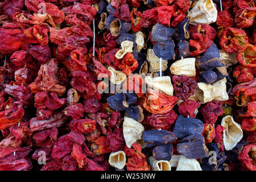
[[[175,59],[174,46],[173,40],[165,40],[156,43],[153,50],[156,56],[162,57],[164,60],[173,60]]]

